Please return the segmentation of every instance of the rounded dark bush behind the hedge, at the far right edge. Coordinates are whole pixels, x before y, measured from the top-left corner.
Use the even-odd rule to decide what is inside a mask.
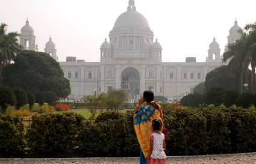
[[[242,106],[243,108],[249,108],[254,104],[255,95],[253,93],[242,93],[236,101],[237,106]]]

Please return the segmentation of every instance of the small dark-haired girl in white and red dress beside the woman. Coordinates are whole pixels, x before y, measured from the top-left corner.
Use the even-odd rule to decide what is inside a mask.
[[[150,140],[150,148],[148,153],[147,164],[162,164],[166,163],[166,154],[165,150],[165,142],[164,142],[164,134],[161,133],[162,129],[162,121],[158,118],[155,118],[152,121],[152,127],[155,133],[149,135]]]

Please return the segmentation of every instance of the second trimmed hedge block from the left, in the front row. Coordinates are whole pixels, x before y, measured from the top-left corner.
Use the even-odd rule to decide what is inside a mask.
[[[84,119],[73,112],[33,115],[26,136],[30,156],[74,157]],[[87,138],[86,142],[93,141]]]

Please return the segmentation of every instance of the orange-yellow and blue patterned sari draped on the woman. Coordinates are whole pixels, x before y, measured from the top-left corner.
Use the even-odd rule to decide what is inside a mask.
[[[144,106],[134,113],[134,130],[143,153],[140,154],[140,163],[146,163],[145,158],[148,156],[150,147],[149,135],[154,133],[154,130],[152,129],[152,120],[155,118],[163,120],[161,107],[160,110],[158,110],[153,106]]]

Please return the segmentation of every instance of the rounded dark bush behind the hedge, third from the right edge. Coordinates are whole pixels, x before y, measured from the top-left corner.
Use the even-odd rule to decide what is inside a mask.
[[[219,106],[223,103],[225,94],[226,91],[222,88],[213,87],[207,92],[206,103],[208,105],[214,104],[215,106]]]

